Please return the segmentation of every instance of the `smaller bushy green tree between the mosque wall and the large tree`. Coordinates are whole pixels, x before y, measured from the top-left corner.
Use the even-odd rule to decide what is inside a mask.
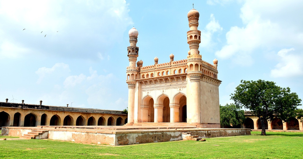
[[[241,127],[244,121],[244,110],[240,110],[240,108],[233,103],[226,104],[225,106],[220,105],[220,124],[222,127]]]

